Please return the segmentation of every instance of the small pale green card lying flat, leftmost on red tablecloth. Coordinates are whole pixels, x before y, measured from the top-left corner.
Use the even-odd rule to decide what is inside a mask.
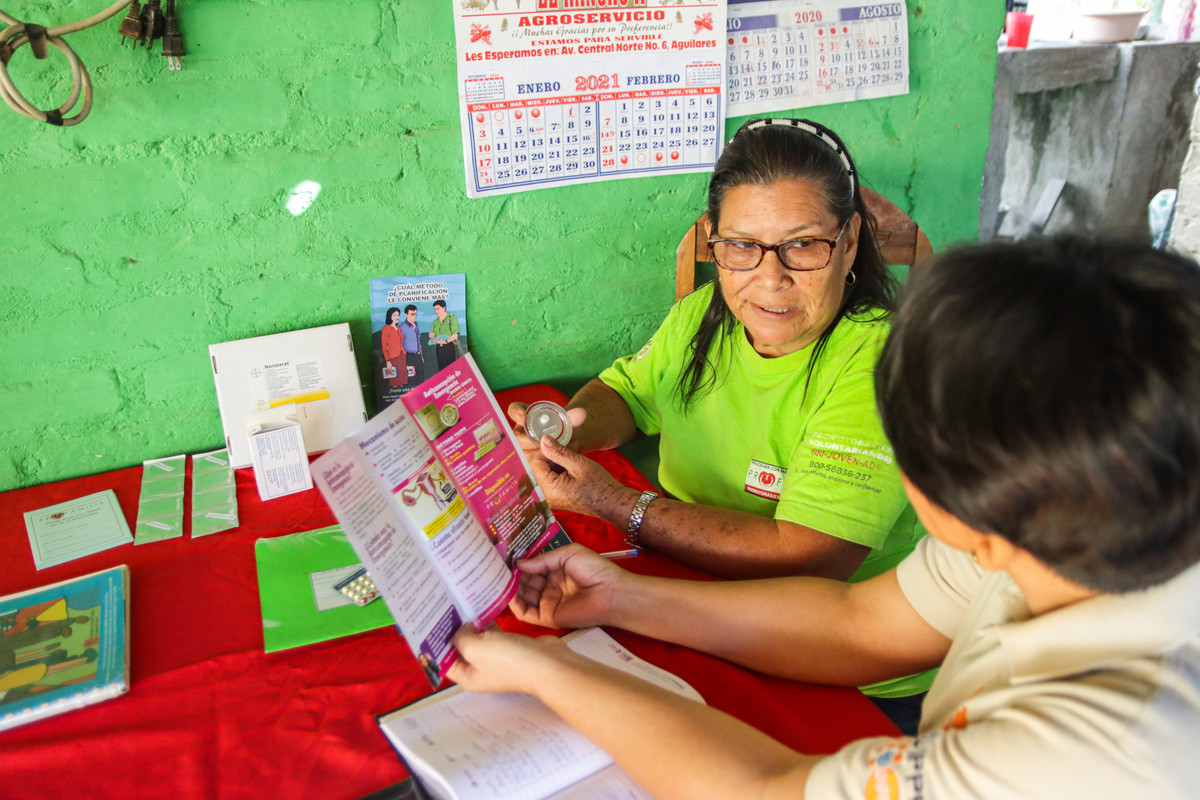
[[[133,541],[112,489],[26,511],[25,529],[38,570]]]

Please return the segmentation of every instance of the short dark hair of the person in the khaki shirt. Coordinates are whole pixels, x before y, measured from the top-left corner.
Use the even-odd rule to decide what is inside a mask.
[[[1145,245],[967,247],[910,277],[875,372],[930,501],[1100,591],[1200,560],[1200,266]]]

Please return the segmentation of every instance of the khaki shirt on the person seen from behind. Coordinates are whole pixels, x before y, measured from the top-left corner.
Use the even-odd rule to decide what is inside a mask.
[[[954,639],[919,735],[847,745],[810,800],[1200,796],[1200,566],[1032,619],[1007,573],[932,537],[898,577]]]

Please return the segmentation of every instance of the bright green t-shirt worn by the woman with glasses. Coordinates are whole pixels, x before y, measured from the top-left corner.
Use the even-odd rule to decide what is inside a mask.
[[[887,572],[925,534],[875,410],[875,362],[889,324],[839,321],[809,380],[811,345],[764,359],[739,323],[731,336],[714,337],[709,361],[718,384],[684,414],[679,373],[713,290],[708,284],[676,303],[646,347],[600,373],[637,427],[659,434],[661,487],[688,503],[794,522],[865,545],[871,552],[852,582]],[[926,675],[868,693],[924,691],[932,680]]]

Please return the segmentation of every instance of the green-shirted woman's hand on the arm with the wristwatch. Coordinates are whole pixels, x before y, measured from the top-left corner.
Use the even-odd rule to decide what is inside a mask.
[[[550,437],[542,437],[541,446],[527,452],[526,457],[552,509],[606,517],[610,511],[628,513],[636,503],[634,489],[622,486],[587,456],[572,452]]]

